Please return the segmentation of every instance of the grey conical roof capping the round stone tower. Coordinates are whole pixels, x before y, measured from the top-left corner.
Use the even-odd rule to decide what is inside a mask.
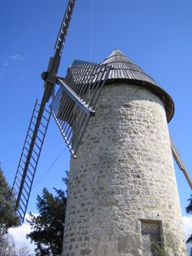
[[[101,64],[111,66],[111,71],[107,77],[107,84],[114,83],[117,80],[118,82],[127,82],[129,80],[132,84],[152,90],[163,101],[167,120],[170,121],[172,119],[174,103],[171,96],[120,50],[112,51],[111,55]]]

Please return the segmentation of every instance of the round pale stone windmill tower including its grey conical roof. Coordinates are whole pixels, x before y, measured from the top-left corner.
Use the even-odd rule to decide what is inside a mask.
[[[71,160],[63,256],[185,255],[171,97],[120,51]]]

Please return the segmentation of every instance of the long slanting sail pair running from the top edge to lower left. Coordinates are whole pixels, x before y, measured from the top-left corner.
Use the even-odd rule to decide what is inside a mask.
[[[64,15],[63,22],[61,24],[61,28],[59,29],[59,35],[55,43],[55,55],[50,58],[47,73],[56,75],[58,72],[60,58],[63,51],[63,44],[68,33],[68,27],[74,5],[75,0],[69,0],[68,7]],[[28,128],[28,134],[24,142],[24,148],[20,157],[19,167],[16,171],[14,183],[12,186],[12,191],[15,196],[15,210],[18,211],[18,213],[20,214],[20,218],[23,221],[28,206],[28,198],[30,196],[31,188],[33,185],[34,174],[37,169],[37,162],[41,153],[42,143],[45,139],[46,129],[50,120],[50,112],[48,112],[49,117],[46,118],[46,124],[43,121],[43,119],[45,119],[45,113],[47,112],[46,102],[49,101],[50,95],[53,95],[54,86],[55,83],[47,82],[45,79],[44,95],[41,99],[41,104],[36,103],[33,110],[32,120]],[[45,126],[44,131],[41,130],[41,126]],[[41,131],[42,138],[40,135]],[[37,143],[37,140],[39,139],[40,141]]]

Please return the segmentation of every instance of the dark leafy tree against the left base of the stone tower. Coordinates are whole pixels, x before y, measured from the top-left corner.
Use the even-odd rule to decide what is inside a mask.
[[[28,224],[33,232],[27,238],[37,245],[37,256],[62,254],[67,198],[62,190],[54,189],[55,196],[46,188],[43,188],[42,196],[37,196],[39,215],[29,213]]]

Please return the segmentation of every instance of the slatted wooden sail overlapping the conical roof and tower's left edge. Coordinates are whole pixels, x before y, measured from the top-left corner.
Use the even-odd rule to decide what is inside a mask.
[[[94,116],[94,107],[109,71],[107,66],[76,60],[68,69],[67,77],[56,81],[60,88],[50,109],[73,157],[89,118]]]

